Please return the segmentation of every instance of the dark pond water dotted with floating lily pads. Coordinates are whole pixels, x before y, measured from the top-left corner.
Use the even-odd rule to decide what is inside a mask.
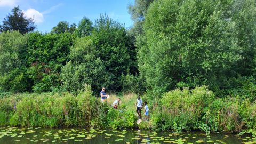
[[[1,127],[0,143],[256,143],[250,135]]]

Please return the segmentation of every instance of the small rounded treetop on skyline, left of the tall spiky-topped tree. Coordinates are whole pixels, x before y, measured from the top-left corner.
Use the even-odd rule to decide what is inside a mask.
[[[76,29],[76,35],[78,37],[89,36],[92,34],[92,21],[89,18],[84,17],[78,24]]]

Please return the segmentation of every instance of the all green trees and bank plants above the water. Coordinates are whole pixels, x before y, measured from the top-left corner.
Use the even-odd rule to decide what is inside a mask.
[[[84,17],[77,28],[61,21],[45,34],[3,24],[0,125],[132,129],[134,101],[144,94],[145,129],[255,134],[255,7],[135,0],[129,30],[107,15]],[[120,95],[121,113],[110,107],[117,95],[108,104],[95,97],[101,87],[137,94]]]

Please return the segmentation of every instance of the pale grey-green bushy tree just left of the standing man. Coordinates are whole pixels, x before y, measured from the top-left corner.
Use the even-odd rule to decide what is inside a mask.
[[[78,38],[70,49],[70,60],[62,67],[63,88],[77,94],[84,84],[90,84],[92,90],[99,91],[113,83],[109,79],[104,62],[97,57],[96,47],[91,39]]]

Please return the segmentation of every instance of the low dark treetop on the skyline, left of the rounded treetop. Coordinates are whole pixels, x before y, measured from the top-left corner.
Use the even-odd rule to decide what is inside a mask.
[[[51,32],[55,33],[55,34],[61,34],[61,33],[66,33],[66,32],[72,34],[72,33],[74,33],[75,29],[76,29],[75,23],[73,23],[69,26],[69,23],[67,21],[60,21],[57,26],[54,26],[52,28]]]

